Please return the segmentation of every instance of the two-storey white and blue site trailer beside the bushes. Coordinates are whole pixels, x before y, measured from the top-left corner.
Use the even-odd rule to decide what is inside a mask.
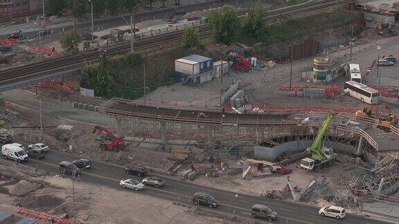
[[[197,86],[213,78],[213,59],[190,55],[175,60],[175,82]]]

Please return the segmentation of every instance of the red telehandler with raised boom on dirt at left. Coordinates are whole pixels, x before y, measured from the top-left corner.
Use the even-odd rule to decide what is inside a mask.
[[[115,136],[111,131],[100,126],[94,127],[93,133],[96,133],[97,131],[103,133],[103,136],[96,139],[96,141],[100,142],[100,149],[114,152],[125,149],[126,144],[123,138]]]

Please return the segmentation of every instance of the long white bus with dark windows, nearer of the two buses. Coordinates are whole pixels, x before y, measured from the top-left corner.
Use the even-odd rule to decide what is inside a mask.
[[[355,81],[345,82],[344,93],[368,104],[378,103],[378,91]]]

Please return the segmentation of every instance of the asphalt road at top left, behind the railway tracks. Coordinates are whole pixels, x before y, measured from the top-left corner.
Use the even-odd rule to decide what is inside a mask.
[[[150,11],[150,12],[137,12],[135,15],[135,21],[136,23],[140,21],[147,21],[147,20],[152,20],[152,19],[163,19],[166,17],[166,15],[170,14],[175,14],[176,10],[186,10],[187,12],[193,12],[195,10],[204,10],[204,9],[209,9],[209,8],[217,8],[220,6],[224,5],[231,5],[231,6],[236,6],[236,0],[228,0],[228,1],[205,1],[202,3],[195,3],[192,5],[188,6],[179,6],[175,8],[165,8],[163,10],[157,10],[157,11]],[[246,7],[247,6],[247,1],[246,0],[238,0],[238,6],[241,7]],[[181,16],[177,16],[179,18]],[[129,18],[127,18],[129,20]],[[98,26],[102,26],[103,29],[108,29],[108,28],[114,28],[117,26],[125,26],[126,21],[122,17],[111,17],[107,19],[94,19],[94,30],[96,31],[98,29]],[[68,26],[60,26],[57,28],[53,28],[54,30],[54,35],[49,35],[46,37],[42,37],[40,40],[41,44],[45,44],[51,41],[55,41],[61,38],[63,32],[62,28],[64,30],[71,30],[73,29],[73,25],[68,25]],[[76,28],[80,34],[83,34],[84,32],[91,32],[91,20],[88,19],[85,22],[80,22],[76,24]],[[37,30],[40,28],[37,27]],[[8,35],[10,35],[12,32],[17,32],[18,30],[12,30]],[[24,37],[35,37],[37,31],[33,32],[23,32]],[[8,35],[0,35],[0,38],[7,37]],[[39,41],[39,40],[36,40]]]

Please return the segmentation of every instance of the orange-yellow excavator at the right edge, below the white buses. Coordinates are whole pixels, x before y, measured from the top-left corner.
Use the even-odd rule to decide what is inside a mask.
[[[387,113],[378,113],[377,109],[385,109]],[[378,120],[378,127],[383,129],[390,129],[391,125],[398,124],[398,118],[392,114],[391,107],[388,104],[370,105],[363,110],[355,112],[356,118],[373,118]]]

